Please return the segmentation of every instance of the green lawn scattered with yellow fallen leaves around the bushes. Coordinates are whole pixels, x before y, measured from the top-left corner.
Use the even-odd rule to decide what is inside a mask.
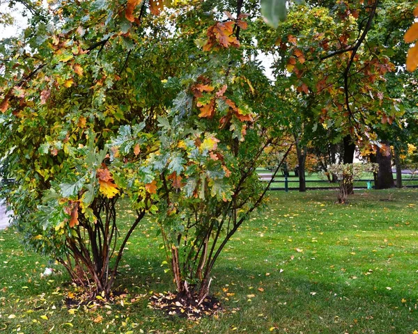
[[[129,293],[123,305],[74,314],[63,305],[74,289],[68,276],[54,265],[57,273],[41,279],[47,259],[6,230],[0,333],[412,333],[417,198],[417,189],[358,191],[350,204],[336,205],[334,191],[272,193],[268,209],[240,229],[217,263],[212,292],[224,312],[199,323],[148,308],[151,292],[174,289],[150,223],[127,246],[116,283]]]

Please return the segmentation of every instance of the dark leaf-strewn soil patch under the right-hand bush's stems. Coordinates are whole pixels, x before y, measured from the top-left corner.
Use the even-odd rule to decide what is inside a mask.
[[[222,310],[219,300],[214,296],[207,296],[203,303],[197,305],[197,300],[187,305],[184,299],[176,294],[154,294],[150,297],[150,307],[156,310],[163,310],[168,315],[176,315],[181,318],[198,320],[201,317],[215,315]]]

